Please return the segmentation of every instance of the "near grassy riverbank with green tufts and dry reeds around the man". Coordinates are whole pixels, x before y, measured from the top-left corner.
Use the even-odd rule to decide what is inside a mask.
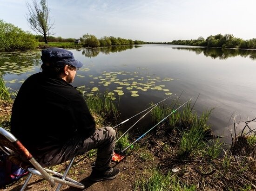
[[[2,85],[2,88],[6,88]],[[6,92],[7,91],[7,92]],[[5,89],[1,96],[0,126],[9,128],[11,115],[10,94]],[[82,90],[81,90],[82,92]],[[7,96],[6,96],[7,95]],[[108,92],[85,96],[94,115],[97,127],[113,126],[118,119],[118,102]],[[153,103],[152,103],[153,104]],[[175,104],[158,105],[151,112],[157,124],[173,111]],[[175,108],[181,106],[177,103]],[[131,146],[124,153],[125,159],[115,163],[121,175],[111,182],[103,181],[88,190],[132,190],[132,191],[252,191],[256,190],[256,120],[246,121],[242,132],[237,132],[236,121],[232,129],[232,144],[225,145],[211,131],[208,119],[213,109],[198,115],[190,102],[170,115]],[[150,127],[148,127],[150,128]],[[118,153],[132,143],[137,135],[123,135],[118,127],[115,151]],[[78,157],[69,176],[86,184],[90,164],[96,150]],[[63,169],[63,165],[54,168]],[[22,178],[7,190],[15,190],[24,182]],[[35,179],[31,185],[35,190],[51,190],[45,181]],[[67,188],[62,188],[68,190]]]

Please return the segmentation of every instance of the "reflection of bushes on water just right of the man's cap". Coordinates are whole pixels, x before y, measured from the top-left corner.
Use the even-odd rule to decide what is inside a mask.
[[[124,45],[124,46],[106,46],[106,47],[97,47],[97,48],[84,48],[82,49],[82,55],[85,57],[97,57],[98,54],[101,52],[103,54],[109,54],[114,52],[121,52],[127,49],[138,48],[141,46],[134,46],[134,45]]]

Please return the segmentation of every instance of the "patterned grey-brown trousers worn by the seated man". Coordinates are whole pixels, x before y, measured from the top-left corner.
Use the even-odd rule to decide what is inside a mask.
[[[41,166],[55,166],[78,155],[83,155],[91,149],[97,149],[95,169],[104,170],[108,168],[115,148],[115,130],[112,127],[101,127],[96,129],[89,138],[79,136],[68,140],[62,148],[36,157]]]

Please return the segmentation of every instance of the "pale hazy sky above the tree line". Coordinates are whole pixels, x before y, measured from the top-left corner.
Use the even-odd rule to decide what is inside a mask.
[[[40,1],[40,0],[36,0]],[[24,31],[26,2],[0,0],[0,19]],[[47,0],[54,37],[114,36],[146,42],[221,33],[256,38],[256,0]]]

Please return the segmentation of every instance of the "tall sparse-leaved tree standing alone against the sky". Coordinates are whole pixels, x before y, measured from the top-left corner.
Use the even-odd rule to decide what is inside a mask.
[[[47,44],[47,37],[51,34],[54,35],[54,33],[50,32],[54,26],[54,22],[51,24],[49,18],[50,9],[47,6],[46,0],[40,0],[40,4],[36,0],[33,0],[32,5],[26,2],[26,6],[28,9],[26,19],[29,27],[37,34],[41,34]]]

